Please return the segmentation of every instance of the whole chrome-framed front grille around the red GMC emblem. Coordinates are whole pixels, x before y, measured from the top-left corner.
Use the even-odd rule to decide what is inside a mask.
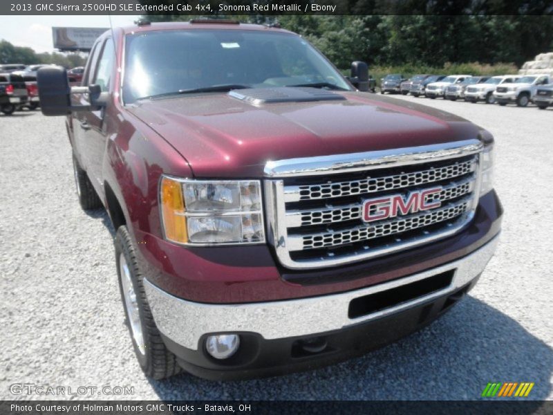
[[[428,147],[433,150],[424,151]],[[324,157],[320,158],[324,163],[319,158],[268,163],[268,234],[277,257],[288,268],[335,266],[457,232],[470,221],[478,203],[482,147],[478,140],[466,140],[330,156],[335,160],[330,164]],[[427,196],[431,200],[426,202],[440,201],[438,207],[397,210],[397,216],[363,220],[365,201],[393,196],[405,203],[413,192],[435,187],[441,191]]]

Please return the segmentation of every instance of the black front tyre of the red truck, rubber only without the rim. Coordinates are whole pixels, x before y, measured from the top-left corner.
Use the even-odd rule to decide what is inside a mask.
[[[131,317],[129,317],[127,307],[125,306],[126,303],[123,293],[122,272],[120,266],[121,257],[124,257],[127,269],[129,270],[136,304],[138,304],[138,315],[140,316],[140,326],[142,327],[142,338],[144,340],[144,347],[142,348],[144,353],[140,351],[138,344],[136,344],[129,320]],[[126,225],[120,226],[117,234],[115,235],[115,263],[117,264],[119,288],[123,302],[126,325],[129,328],[131,341],[133,342],[133,349],[142,371],[144,371],[144,374],[149,378],[158,380],[179,374],[182,369],[178,365],[176,356],[165,346],[165,343],[161,338],[160,331],[158,330],[158,326],[156,326],[156,322],[153,321],[146,292],[144,291],[142,273],[140,272],[140,268],[138,268],[138,262],[136,260],[136,251],[131,241],[129,231],[126,229]]]

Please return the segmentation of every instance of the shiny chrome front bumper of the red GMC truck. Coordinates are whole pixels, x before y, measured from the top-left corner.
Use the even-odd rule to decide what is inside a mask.
[[[197,350],[201,347],[200,339],[207,333],[247,331],[259,333],[265,340],[289,338],[346,329],[355,324],[403,311],[453,293],[478,277],[494,255],[497,243],[498,237],[495,237],[462,259],[409,277],[356,291],[304,299],[251,304],[203,304],[174,297],[147,279],[144,279],[144,288],[153,318],[161,333],[182,347]],[[455,273],[447,288],[362,317],[348,317],[350,302],[357,297],[410,284],[448,270],[455,270]]]

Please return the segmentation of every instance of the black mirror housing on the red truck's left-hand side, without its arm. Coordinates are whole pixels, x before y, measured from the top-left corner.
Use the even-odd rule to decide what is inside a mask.
[[[43,66],[37,71],[40,108],[45,116],[71,113],[71,88],[67,70],[62,66]]]

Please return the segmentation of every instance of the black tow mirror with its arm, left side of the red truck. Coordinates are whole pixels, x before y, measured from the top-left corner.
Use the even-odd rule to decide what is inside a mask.
[[[69,86],[67,70],[62,66],[46,66],[37,71],[41,111],[45,116],[67,116],[72,111],[96,111],[105,107],[109,92],[100,85]],[[90,105],[72,105],[71,94],[88,94]]]

